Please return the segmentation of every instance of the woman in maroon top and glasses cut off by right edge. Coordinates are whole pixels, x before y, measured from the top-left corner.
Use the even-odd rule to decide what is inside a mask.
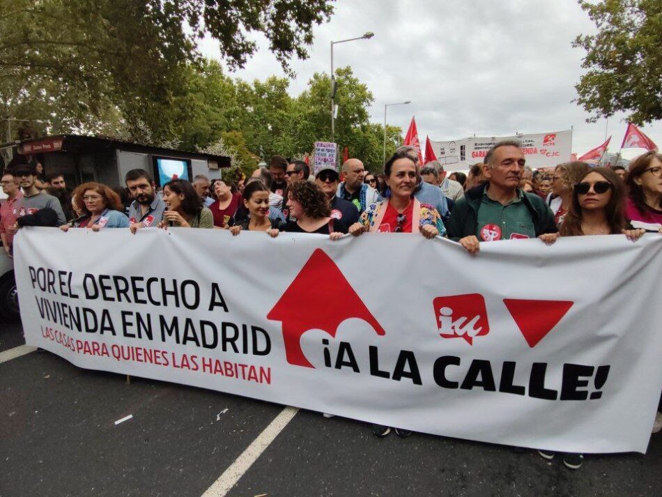
[[[662,227],[662,154],[650,151],[631,162],[625,215],[630,221]]]

